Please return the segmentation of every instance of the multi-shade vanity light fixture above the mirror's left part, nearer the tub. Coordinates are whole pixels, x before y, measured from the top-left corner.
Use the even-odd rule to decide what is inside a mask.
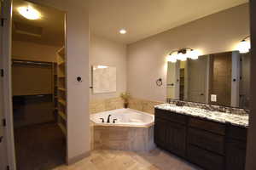
[[[172,51],[167,60],[176,63],[177,60],[185,61],[187,59],[198,59],[200,52],[192,48],[182,48],[179,50]]]

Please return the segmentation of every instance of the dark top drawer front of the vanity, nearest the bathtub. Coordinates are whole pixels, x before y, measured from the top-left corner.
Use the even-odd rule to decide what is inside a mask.
[[[163,111],[160,109],[155,109],[154,116],[156,118],[160,117],[160,118],[167,119],[171,122],[179,122],[179,123],[183,123],[183,124],[185,124],[185,122],[186,122],[186,116],[178,114],[178,113],[174,113],[172,111]]]

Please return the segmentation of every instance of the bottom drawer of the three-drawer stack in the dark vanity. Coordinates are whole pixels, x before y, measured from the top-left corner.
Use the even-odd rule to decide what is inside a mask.
[[[207,150],[189,144],[188,145],[189,161],[206,168],[207,170],[223,170],[224,156],[218,156]]]

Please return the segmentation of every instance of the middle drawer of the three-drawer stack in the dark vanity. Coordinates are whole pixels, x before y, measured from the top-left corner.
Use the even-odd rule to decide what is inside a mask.
[[[224,136],[189,127],[189,144],[224,155]]]

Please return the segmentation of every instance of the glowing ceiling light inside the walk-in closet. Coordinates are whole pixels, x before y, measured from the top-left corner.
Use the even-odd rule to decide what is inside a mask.
[[[28,20],[38,20],[41,17],[41,14],[35,8],[30,6],[27,7],[19,7],[19,13],[24,16]]]

